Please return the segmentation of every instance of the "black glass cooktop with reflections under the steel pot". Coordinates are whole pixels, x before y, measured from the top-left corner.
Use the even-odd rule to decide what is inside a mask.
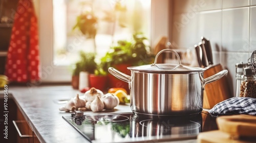
[[[200,132],[216,130],[216,117],[208,112],[194,117],[142,118],[133,113],[62,116],[90,142],[159,142],[196,139]]]

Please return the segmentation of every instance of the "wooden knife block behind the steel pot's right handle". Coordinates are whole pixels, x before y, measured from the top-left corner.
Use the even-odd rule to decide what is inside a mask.
[[[219,73],[221,70],[223,70],[221,64],[210,66],[204,71],[204,79]],[[231,91],[228,86],[227,76],[224,76],[215,82],[205,85],[203,108],[211,109],[216,104],[229,98],[232,98]]]

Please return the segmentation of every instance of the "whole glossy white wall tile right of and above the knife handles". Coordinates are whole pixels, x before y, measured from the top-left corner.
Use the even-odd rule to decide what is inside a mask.
[[[248,52],[249,8],[223,10],[222,51]]]

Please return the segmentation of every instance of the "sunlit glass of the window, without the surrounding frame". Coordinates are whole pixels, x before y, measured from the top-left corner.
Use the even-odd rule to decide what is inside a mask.
[[[53,0],[54,64],[73,64],[80,51],[99,60],[135,32],[149,39],[150,18],[150,0]]]

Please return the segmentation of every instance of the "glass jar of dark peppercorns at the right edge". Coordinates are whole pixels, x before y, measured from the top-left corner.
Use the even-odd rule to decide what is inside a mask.
[[[240,86],[240,97],[256,98],[256,75],[250,67],[244,68],[243,82]]]

